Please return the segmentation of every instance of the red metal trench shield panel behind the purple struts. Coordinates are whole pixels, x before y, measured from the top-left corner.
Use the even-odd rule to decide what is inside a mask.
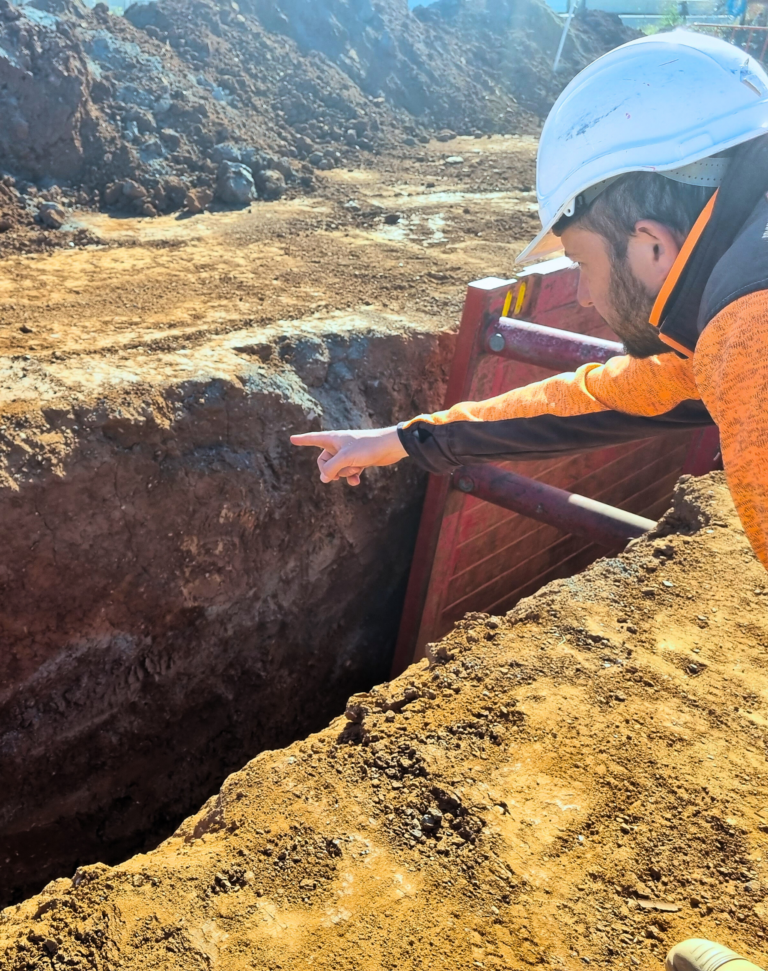
[[[578,270],[551,260],[515,280],[470,284],[445,407],[480,400],[547,377],[551,371],[487,353],[487,330],[503,315],[593,337],[615,339],[576,301]],[[714,432],[714,435],[713,435]],[[521,475],[656,519],[683,471],[714,467],[716,430],[556,459],[499,463]],[[450,488],[431,476],[400,627],[393,672],[425,654],[468,611],[501,613],[557,577],[584,569],[605,549]]]

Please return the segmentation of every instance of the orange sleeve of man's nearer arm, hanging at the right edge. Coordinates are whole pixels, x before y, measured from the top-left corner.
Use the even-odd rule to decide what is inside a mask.
[[[768,290],[720,311],[699,338],[693,367],[720,428],[725,474],[744,532],[768,568]]]

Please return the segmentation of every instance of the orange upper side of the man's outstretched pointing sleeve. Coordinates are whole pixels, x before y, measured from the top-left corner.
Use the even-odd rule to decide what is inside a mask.
[[[464,401],[447,411],[413,421],[442,425],[451,421],[500,421],[537,415],[587,415],[623,411],[662,415],[689,398],[699,398],[689,359],[661,354],[644,359],[614,357],[606,364],[584,364],[577,371],[515,388],[486,401]],[[411,422],[407,422],[408,427]]]

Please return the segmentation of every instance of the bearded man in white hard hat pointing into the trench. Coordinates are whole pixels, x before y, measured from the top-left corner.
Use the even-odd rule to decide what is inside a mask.
[[[768,567],[767,132],[768,76],[724,41],[677,30],[604,55],[544,126],[542,232],[520,260],[559,237],[581,269],[579,301],[625,356],[393,428],[292,441],[323,449],[324,482],[357,485],[365,468],[406,455],[447,472],[714,420],[744,529]]]

